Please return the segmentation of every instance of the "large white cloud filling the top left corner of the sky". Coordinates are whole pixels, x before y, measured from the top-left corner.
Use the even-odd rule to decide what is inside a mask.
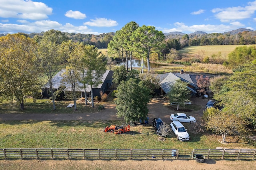
[[[1,0],[0,17],[41,20],[52,14],[52,8],[32,0]]]

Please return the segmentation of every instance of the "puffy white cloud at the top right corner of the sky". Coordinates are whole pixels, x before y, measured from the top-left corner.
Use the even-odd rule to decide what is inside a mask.
[[[212,9],[215,17],[221,22],[230,22],[230,20],[243,20],[250,18],[256,10],[256,1],[248,2],[245,7],[215,8]]]

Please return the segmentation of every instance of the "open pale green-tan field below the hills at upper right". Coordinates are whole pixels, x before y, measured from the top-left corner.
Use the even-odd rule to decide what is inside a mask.
[[[204,53],[204,56],[210,57],[213,54],[221,53],[222,57],[226,58],[228,54],[236,47],[241,47],[244,45],[198,45],[198,46],[188,46],[179,50],[180,54],[198,54]],[[246,45],[251,46],[251,45]]]

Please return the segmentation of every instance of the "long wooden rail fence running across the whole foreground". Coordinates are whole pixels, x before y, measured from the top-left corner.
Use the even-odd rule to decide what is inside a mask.
[[[0,159],[8,158],[83,158],[83,159],[146,159],[167,160],[195,155],[216,159],[255,160],[256,149],[65,149],[65,148],[6,148],[0,149]]]

